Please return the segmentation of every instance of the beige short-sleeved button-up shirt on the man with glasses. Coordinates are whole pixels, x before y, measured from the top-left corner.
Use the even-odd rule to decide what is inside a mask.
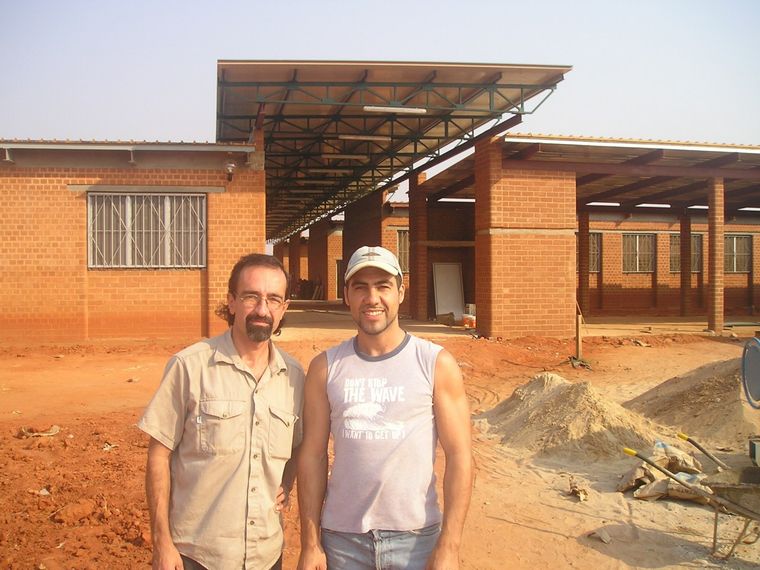
[[[275,496],[301,441],[304,372],[269,354],[257,382],[229,330],[182,350],[137,424],[173,450],[172,538],[209,570],[268,569],[282,552]]]

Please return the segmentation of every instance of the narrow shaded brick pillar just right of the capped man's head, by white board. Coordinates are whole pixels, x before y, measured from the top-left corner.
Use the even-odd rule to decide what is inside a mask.
[[[409,309],[412,318],[426,321],[429,304],[427,196],[420,188],[425,175],[409,179]]]

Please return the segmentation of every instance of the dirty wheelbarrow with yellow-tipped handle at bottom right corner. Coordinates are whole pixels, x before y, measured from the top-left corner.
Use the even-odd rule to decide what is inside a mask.
[[[731,549],[723,558],[731,558],[736,547],[748,535],[749,525],[752,521],[760,522],[760,467],[745,467],[741,470],[727,470],[718,473],[702,483],[709,487],[712,493],[692,485],[687,481],[682,481],[675,473],[661,467],[650,458],[641,455],[634,449],[625,448],[623,450],[627,455],[641,459],[651,465],[670,479],[678,482],[692,493],[700,495],[707,499],[708,503],[715,509],[715,522],[713,523],[713,556],[718,556],[718,515],[721,509],[729,513],[738,515],[744,519],[744,526],[736,540],[733,541]]]

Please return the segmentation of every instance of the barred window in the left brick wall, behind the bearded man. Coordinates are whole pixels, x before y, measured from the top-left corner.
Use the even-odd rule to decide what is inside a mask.
[[[205,267],[205,194],[87,195],[88,266]]]

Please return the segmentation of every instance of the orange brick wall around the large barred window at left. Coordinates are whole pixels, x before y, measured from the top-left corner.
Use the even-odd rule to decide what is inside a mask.
[[[88,270],[86,194],[69,185],[226,186],[208,195],[207,269]],[[11,166],[0,191],[3,342],[214,334],[232,265],[264,251],[263,171]]]

